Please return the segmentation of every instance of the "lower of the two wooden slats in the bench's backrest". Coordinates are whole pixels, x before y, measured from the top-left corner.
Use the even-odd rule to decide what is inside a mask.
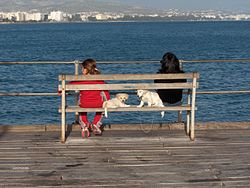
[[[59,89],[61,90],[61,85]],[[191,89],[192,83],[130,83],[130,84],[67,84],[71,90],[137,90],[137,89]]]

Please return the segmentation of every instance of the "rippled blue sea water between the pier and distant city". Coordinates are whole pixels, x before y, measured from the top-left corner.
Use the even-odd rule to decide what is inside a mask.
[[[159,60],[167,51],[184,60],[250,59],[250,22],[0,25],[0,61]],[[99,68],[104,74],[155,73],[159,64]],[[199,91],[250,90],[250,63],[185,63],[184,70],[200,72]],[[56,92],[58,74],[73,72],[73,65],[0,65],[0,92]],[[131,96],[128,103],[139,102]],[[0,97],[0,125],[59,124],[59,104],[59,97]],[[198,95],[197,106],[197,121],[250,121],[250,94]],[[140,115],[110,113],[104,122],[176,120],[170,112],[164,119]]]

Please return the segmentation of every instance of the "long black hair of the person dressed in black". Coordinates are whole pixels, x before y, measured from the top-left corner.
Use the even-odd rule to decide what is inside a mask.
[[[179,59],[171,52],[163,55],[159,73],[178,73],[181,72]]]

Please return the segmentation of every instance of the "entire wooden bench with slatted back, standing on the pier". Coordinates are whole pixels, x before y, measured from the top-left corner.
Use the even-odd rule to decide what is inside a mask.
[[[154,83],[154,80],[161,79],[186,79],[186,83]],[[102,74],[102,75],[59,75],[59,89],[61,94],[61,142],[65,142],[66,131],[66,113],[67,112],[104,112],[103,108],[80,108],[79,106],[68,106],[66,104],[66,92],[80,91],[80,90],[109,90],[124,92],[128,90],[137,89],[183,89],[187,92],[187,102],[178,106],[165,106],[165,107],[142,107],[136,106],[124,108],[109,108],[108,112],[132,112],[132,111],[186,111],[186,134],[189,135],[191,140],[195,139],[194,126],[195,126],[195,100],[196,88],[198,87],[199,73],[178,73],[178,74]],[[69,81],[80,80],[104,80],[107,84],[68,84]],[[109,83],[119,81],[120,83]]]

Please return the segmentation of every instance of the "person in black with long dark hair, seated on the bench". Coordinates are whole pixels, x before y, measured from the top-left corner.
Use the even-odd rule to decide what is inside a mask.
[[[168,74],[168,73],[184,73],[180,68],[180,62],[178,58],[171,52],[167,52],[163,55],[161,63],[161,69],[157,73]],[[176,83],[186,82],[186,79],[175,79],[175,80],[155,80],[155,83]],[[163,103],[175,104],[182,101],[182,89],[158,89],[159,94]]]

